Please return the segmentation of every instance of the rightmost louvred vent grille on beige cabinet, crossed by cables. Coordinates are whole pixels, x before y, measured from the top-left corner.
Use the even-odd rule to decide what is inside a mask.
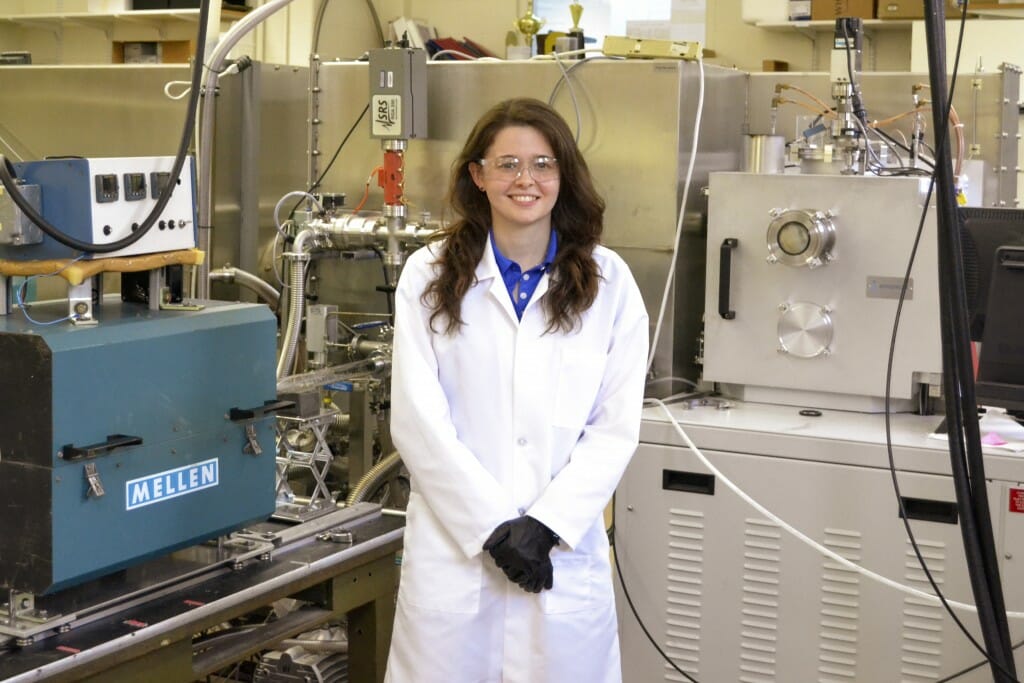
[[[946,544],[918,539],[928,570],[936,585],[943,586],[946,568]],[[910,541],[906,542],[903,579],[907,586],[932,593],[932,586],[921,568]],[[934,600],[907,595],[903,598],[903,638],[900,647],[900,674],[903,683],[933,682],[941,677],[942,605]]]

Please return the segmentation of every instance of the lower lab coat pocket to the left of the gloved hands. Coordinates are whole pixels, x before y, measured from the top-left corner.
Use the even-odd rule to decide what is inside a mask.
[[[480,557],[467,558],[415,493],[409,499],[403,543],[399,593],[409,604],[462,614],[479,609]]]

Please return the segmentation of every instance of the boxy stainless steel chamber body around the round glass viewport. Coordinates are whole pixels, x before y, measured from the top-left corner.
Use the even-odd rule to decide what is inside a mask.
[[[790,404],[880,410],[896,301],[866,296],[864,283],[906,271],[927,188],[921,178],[714,174],[709,252],[726,239],[738,247],[728,282],[719,259],[709,258],[705,379],[733,385],[728,395],[750,400],[756,394]],[[831,215],[834,258],[819,267],[784,265],[765,244],[773,219],[798,209]],[[915,373],[942,372],[934,221],[931,211],[911,273],[914,296],[902,307],[894,399],[915,395]],[[718,313],[725,288],[734,319]],[[808,311],[817,312],[801,314]]]

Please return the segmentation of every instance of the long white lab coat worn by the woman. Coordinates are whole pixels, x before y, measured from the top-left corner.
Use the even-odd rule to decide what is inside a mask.
[[[412,494],[386,682],[622,680],[602,512],[639,438],[648,329],[626,263],[594,258],[599,293],[569,334],[545,334],[547,274],[516,319],[489,242],[454,336],[420,301],[431,248],[402,271],[391,435]],[[561,539],[540,594],[482,551],[524,513]]]

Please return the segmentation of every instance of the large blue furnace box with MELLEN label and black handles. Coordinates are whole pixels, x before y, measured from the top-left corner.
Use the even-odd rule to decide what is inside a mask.
[[[205,304],[0,316],[0,586],[51,593],[273,512],[274,317]]]

